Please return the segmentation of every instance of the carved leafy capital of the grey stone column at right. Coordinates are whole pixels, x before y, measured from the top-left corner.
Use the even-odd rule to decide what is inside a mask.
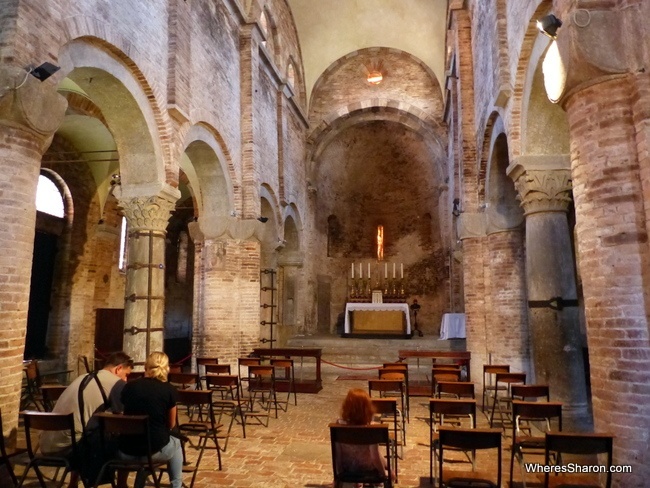
[[[516,177],[515,188],[525,215],[566,212],[571,203],[571,171],[525,170]]]

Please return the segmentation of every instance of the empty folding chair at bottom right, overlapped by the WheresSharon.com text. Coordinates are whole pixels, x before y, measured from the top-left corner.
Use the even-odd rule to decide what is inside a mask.
[[[603,455],[605,462],[602,467],[606,470],[606,473],[590,475],[579,473],[576,470],[576,473],[573,474],[563,473],[562,475],[551,475],[546,472],[544,474],[544,487],[599,486],[610,488],[612,486],[611,466],[613,450],[614,437],[608,434],[547,433],[544,452],[544,463],[546,465],[551,463],[553,455],[557,459],[562,459],[562,454],[568,454],[571,457],[572,463],[578,461],[578,458],[582,458],[585,460],[585,464],[590,465],[593,470],[593,465],[598,460],[598,455]]]

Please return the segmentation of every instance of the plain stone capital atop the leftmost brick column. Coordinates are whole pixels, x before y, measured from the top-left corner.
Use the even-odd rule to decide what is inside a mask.
[[[47,146],[67,106],[51,82],[40,82],[15,66],[0,68],[0,125],[29,132]]]

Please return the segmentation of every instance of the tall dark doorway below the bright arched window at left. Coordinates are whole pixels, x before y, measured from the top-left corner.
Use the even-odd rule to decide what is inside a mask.
[[[50,297],[56,259],[58,236],[36,231],[32,281],[29,290],[25,359],[46,356],[47,324],[50,318]]]

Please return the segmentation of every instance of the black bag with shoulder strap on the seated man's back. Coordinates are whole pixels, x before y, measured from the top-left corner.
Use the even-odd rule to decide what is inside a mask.
[[[79,472],[79,477],[84,486],[94,486],[99,471],[106,461],[110,461],[117,457],[117,440],[106,439],[102,443],[102,435],[99,428],[88,429],[86,427],[86,419],[84,418],[84,399],[83,392],[90,384],[91,381],[96,381],[99,391],[104,399],[104,404],[101,405],[96,412],[106,411],[110,405],[106,392],[102,387],[97,372],[89,373],[79,385],[78,402],[81,417],[81,425],[83,426],[83,434],[81,439],[77,442],[77,453],[74,456],[73,468]],[[109,471],[104,472],[102,479],[99,480],[100,485],[111,483],[113,473]]]

